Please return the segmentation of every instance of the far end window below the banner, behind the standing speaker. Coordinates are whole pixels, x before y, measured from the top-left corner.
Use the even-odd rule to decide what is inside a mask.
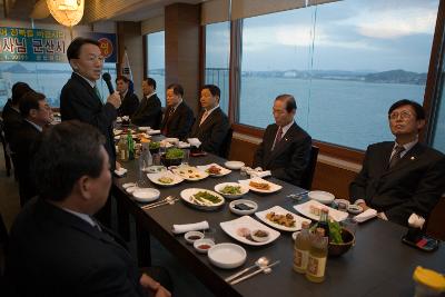
[[[105,63],[103,72],[116,77],[116,65]],[[60,107],[60,92],[71,77],[68,62],[1,62],[0,63],[0,108],[11,97],[12,85],[27,82],[32,89],[43,93],[51,107]],[[107,85],[98,81],[102,99],[108,97]]]

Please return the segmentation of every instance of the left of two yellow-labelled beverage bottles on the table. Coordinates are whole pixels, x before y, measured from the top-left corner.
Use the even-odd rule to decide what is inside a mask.
[[[301,222],[301,231],[295,238],[294,244],[294,270],[299,274],[306,273],[307,260],[309,258],[312,235],[309,222]]]

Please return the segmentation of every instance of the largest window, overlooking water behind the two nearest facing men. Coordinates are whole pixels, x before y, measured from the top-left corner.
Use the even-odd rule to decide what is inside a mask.
[[[265,128],[276,96],[291,93],[314,139],[358,149],[394,139],[389,106],[423,102],[437,8],[346,0],[245,19],[240,123]]]

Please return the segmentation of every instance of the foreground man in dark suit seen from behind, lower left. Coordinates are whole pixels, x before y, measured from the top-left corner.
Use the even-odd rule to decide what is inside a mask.
[[[32,164],[40,197],[11,228],[7,296],[170,296],[92,217],[111,186],[103,145],[103,135],[77,120],[43,131]]]

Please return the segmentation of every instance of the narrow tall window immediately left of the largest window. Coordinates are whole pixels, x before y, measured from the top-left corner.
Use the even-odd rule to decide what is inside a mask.
[[[206,26],[206,83],[221,90],[219,106],[229,109],[229,55],[230,23],[218,22]]]

